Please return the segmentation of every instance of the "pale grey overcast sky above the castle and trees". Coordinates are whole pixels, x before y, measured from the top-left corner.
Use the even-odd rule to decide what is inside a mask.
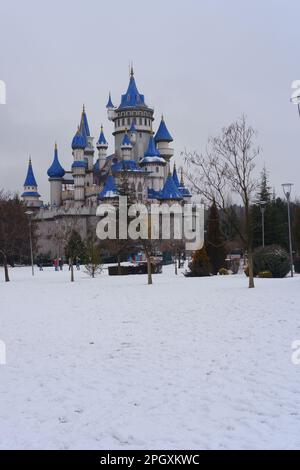
[[[164,114],[180,152],[242,113],[258,131],[259,164],[272,185],[295,183],[300,196],[300,119],[290,104],[300,79],[297,0],[0,0],[0,188],[22,190],[31,154],[39,191],[57,140],[61,163],[85,103],[92,135],[105,105],[128,85],[128,63],[159,123]]]

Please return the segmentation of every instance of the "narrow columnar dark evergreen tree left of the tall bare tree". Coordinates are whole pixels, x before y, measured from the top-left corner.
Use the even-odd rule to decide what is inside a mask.
[[[220,230],[219,212],[215,201],[208,215],[206,251],[210,260],[212,274],[218,274],[220,268],[225,267],[226,252],[224,238]]]

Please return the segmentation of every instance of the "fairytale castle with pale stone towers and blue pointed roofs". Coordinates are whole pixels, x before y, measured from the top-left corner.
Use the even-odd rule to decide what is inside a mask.
[[[114,125],[114,152],[108,152],[103,127],[96,142],[90,134],[88,118],[83,107],[80,125],[72,140],[73,162],[64,169],[59,162],[55,144],[54,158],[47,171],[50,184],[50,203],[44,205],[38,193],[32,162],[29,159],[22,199],[35,210],[39,224],[41,251],[54,253],[51,233],[62,220],[76,220],[77,230],[85,237],[96,224],[96,209],[103,202],[116,202],[126,185],[135,201],[143,203],[185,204],[191,199],[183,175],[179,180],[176,166],[171,173],[174,155],[170,144],[173,138],[162,116],[156,133],[153,132],[154,110],[147,106],[139,93],[131,67],[129,85],[114,106],[109,93],[106,105],[109,121]]]

